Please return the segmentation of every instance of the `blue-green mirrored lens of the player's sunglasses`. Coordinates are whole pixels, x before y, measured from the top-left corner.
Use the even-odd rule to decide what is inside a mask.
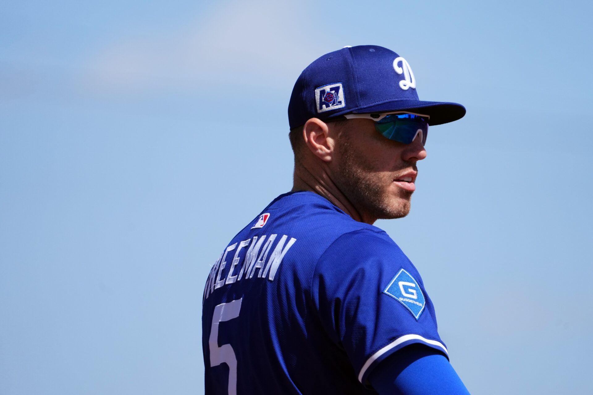
[[[391,114],[375,122],[375,129],[383,136],[396,142],[410,144],[422,133],[422,145],[426,144],[428,120],[414,114]]]

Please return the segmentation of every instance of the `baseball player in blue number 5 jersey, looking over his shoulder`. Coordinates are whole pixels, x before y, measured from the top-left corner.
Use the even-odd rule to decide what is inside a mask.
[[[407,215],[428,126],[465,113],[420,101],[409,63],[380,46],[301,73],[288,105],[294,187],[206,280],[207,395],[467,394],[420,274],[372,225]]]

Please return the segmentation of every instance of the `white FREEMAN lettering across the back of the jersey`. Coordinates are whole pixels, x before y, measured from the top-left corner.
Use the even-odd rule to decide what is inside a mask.
[[[270,235],[270,237],[263,235],[259,238],[253,236],[251,239],[229,245],[210,270],[210,275],[208,276],[206,287],[204,288],[202,303],[204,303],[204,300],[206,300],[214,290],[222,287],[222,285],[253,278],[253,276],[256,275],[256,272],[256,278],[265,278],[267,276],[268,280],[274,281],[274,277],[278,271],[280,262],[282,262],[282,258],[284,258],[288,249],[297,241],[297,239],[291,237],[291,239],[288,240],[288,243],[286,243],[288,236],[283,235],[280,237],[280,240],[276,243],[276,247],[272,251],[272,255],[270,255],[270,258],[267,259],[266,262],[267,255],[270,252],[270,249],[272,249],[272,244],[275,242],[276,236],[278,235]],[[238,266],[241,261],[239,253],[241,252],[241,249],[246,247],[248,247],[248,249],[243,257],[243,265],[241,265],[241,269],[237,273],[236,266]],[[227,266],[229,263],[227,262],[227,254],[233,250],[235,251],[235,255],[232,258],[230,265]],[[222,275],[222,271],[227,267],[228,272],[227,277],[225,278],[224,275]]]

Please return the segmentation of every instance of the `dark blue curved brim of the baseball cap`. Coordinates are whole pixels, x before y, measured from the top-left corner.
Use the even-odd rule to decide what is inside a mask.
[[[406,111],[429,115],[428,124],[431,126],[457,121],[466,115],[466,108],[458,103],[443,101],[422,100],[396,100],[372,105],[371,107],[357,108],[352,114],[387,113],[388,111]],[[414,110],[414,111],[412,111]]]

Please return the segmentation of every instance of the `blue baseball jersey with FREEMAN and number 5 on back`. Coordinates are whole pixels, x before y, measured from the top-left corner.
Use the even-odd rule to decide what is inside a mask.
[[[447,356],[416,268],[313,192],[273,200],[206,280],[206,395],[375,393],[369,373],[412,343]]]

